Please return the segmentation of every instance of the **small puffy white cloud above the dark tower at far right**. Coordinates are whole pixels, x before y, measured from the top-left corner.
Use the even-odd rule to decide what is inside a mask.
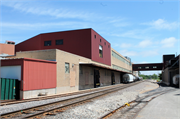
[[[170,37],[170,38],[165,38],[161,41],[162,47],[164,48],[170,48],[170,47],[174,47],[174,44],[177,42],[178,40],[174,37]]]

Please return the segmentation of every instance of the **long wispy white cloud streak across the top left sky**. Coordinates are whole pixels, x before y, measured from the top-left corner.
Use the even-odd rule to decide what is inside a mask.
[[[19,10],[24,13],[31,13],[36,15],[48,15],[57,18],[78,18],[78,19],[88,19],[92,17],[93,13],[86,13],[84,11],[70,10],[66,8],[51,8],[45,7],[36,2],[2,2],[4,6],[11,7],[15,10]],[[33,5],[32,5],[33,4]]]

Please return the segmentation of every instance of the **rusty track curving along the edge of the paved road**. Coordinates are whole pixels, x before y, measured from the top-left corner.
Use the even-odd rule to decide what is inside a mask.
[[[160,89],[156,92],[150,91],[147,95],[139,97],[138,99],[135,99],[129,103],[126,103],[123,106],[120,106],[117,109],[106,113],[99,119],[134,119],[141,111],[141,109],[145,107],[151,100],[171,91],[175,91],[175,89],[168,89],[164,91]]]

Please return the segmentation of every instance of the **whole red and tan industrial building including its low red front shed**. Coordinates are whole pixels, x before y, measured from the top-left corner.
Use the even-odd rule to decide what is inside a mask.
[[[1,73],[8,67],[21,73],[1,78],[20,80],[20,99],[119,84],[123,74],[133,73],[131,59],[91,28],[39,34],[6,58]]]

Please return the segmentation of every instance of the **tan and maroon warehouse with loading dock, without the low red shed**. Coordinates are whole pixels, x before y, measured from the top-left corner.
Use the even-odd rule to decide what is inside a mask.
[[[9,58],[56,62],[55,94],[119,84],[123,74],[132,73],[131,60],[93,29],[39,34],[17,44],[15,51]],[[30,97],[37,97],[35,92]]]

